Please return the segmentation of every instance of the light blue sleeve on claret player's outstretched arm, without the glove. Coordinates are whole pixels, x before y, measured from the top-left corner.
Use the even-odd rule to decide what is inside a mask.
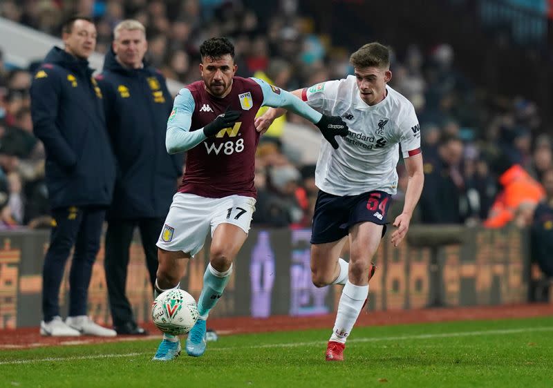
[[[301,99],[292,95],[292,93],[272,86],[262,79],[252,78],[263,92],[263,104],[262,106],[270,106],[271,108],[285,108],[290,112],[296,113],[301,117],[308,119],[313,124],[318,123],[321,120],[321,113],[311,108],[308,104],[305,104]]]

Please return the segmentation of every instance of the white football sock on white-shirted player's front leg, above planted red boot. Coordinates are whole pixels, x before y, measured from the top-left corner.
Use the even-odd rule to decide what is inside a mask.
[[[346,343],[367,295],[368,284],[366,286],[356,286],[350,283],[349,280],[346,282],[344,289],[341,291],[336,322],[334,329],[332,329],[332,336],[330,336],[331,341]]]

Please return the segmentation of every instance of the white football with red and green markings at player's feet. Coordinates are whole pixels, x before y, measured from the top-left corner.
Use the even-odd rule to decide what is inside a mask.
[[[196,300],[181,289],[170,289],[158,295],[151,307],[151,319],[156,327],[173,336],[186,334],[198,320]]]

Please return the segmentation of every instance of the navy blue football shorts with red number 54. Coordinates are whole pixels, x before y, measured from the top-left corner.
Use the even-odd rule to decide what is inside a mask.
[[[341,240],[359,222],[384,225],[384,236],[388,224],[386,214],[391,202],[391,195],[384,191],[339,196],[319,190],[313,215],[311,244]]]

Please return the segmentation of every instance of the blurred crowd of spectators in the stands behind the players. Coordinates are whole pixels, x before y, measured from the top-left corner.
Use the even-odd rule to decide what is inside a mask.
[[[293,4],[282,1],[278,12],[261,15],[240,0],[3,0],[0,15],[56,36],[68,14],[91,16],[100,52],[109,50],[116,23],[138,19],[147,28],[149,62],[183,84],[198,79],[199,45],[214,36],[234,41],[238,75],[260,77],[286,90],[352,74],[348,49],[331,46],[328,37],[317,34],[315,21],[297,14]],[[32,136],[29,111],[33,70],[8,66],[0,56],[4,228],[47,224],[44,151]],[[455,52],[447,43],[432,48],[413,44],[395,52],[392,72],[391,86],[413,102],[422,132],[426,185],[413,222],[529,225],[546,195],[540,182],[553,168],[551,139],[542,134],[538,106],[474,85],[456,70]],[[293,115],[286,119],[315,128]],[[254,224],[308,227],[317,195],[315,166],[301,164],[300,144],[287,146],[284,126],[276,122],[257,152]],[[401,211],[408,179],[402,165],[398,170],[392,221]],[[505,199],[512,177],[523,182],[516,200],[511,195]]]

